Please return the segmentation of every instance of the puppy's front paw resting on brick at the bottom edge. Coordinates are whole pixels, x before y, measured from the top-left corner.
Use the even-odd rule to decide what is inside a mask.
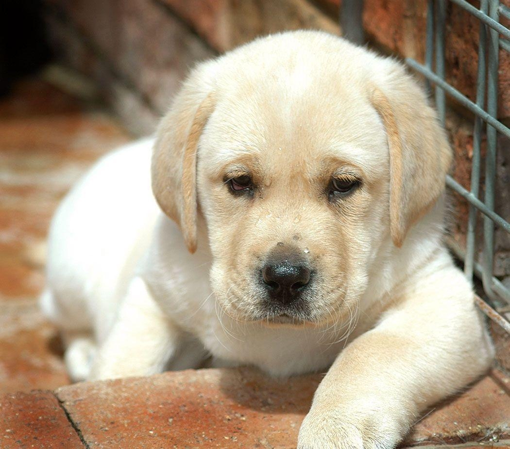
[[[297,449],[390,449],[403,433],[396,421],[381,411],[312,409],[299,429]]]

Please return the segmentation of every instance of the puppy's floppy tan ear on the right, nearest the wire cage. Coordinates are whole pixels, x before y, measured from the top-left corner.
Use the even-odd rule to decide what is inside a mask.
[[[451,149],[435,110],[416,81],[400,67],[373,88],[371,102],[382,119],[390,149],[390,231],[401,246],[407,231],[445,188]]]

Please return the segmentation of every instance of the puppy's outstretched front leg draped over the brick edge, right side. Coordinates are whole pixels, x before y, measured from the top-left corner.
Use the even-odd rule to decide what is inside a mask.
[[[339,355],[303,421],[299,449],[394,447],[419,412],[488,368],[493,350],[469,286],[445,271],[448,284],[425,279]],[[465,288],[452,292],[458,283]]]

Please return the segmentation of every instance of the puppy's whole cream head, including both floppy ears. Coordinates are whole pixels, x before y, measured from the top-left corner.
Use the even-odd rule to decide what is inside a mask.
[[[379,248],[444,189],[450,151],[414,80],[342,39],[294,32],[199,66],[160,126],[156,198],[238,320],[322,323],[365,291]]]

